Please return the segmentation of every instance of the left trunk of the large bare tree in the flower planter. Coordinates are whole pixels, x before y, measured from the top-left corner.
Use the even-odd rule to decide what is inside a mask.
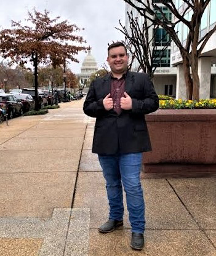
[[[183,71],[185,74],[185,84],[186,84],[186,99],[192,100],[193,95],[193,80],[191,79],[190,73],[190,62],[186,55],[182,55],[183,60]]]

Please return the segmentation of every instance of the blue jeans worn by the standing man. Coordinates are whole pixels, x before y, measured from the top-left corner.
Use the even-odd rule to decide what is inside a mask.
[[[110,205],[110,219],[122,220],[124,214],[122,185],[126,191],[127,210],[129,211],[132,232],[143,233],[145,230],[145,203],[140,183],[142,153],[133,154],[98,154],[106,191]]]

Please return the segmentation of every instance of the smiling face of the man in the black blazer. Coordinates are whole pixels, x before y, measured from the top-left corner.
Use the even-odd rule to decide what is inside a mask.
[[[122,74],[127,70],[128,57],[123,46],[111,48],[107,62],[114,74]]]

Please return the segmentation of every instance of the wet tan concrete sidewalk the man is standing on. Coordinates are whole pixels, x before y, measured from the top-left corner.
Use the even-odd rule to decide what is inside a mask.
[[[143,179],[145,248],[100,234],[105,182],[83,100],[0,124],[0,256],[216,256],[216,178]]]

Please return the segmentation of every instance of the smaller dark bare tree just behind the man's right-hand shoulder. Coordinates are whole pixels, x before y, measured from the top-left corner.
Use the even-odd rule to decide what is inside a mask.
[[[154,71],[162,58],[162,55],[155,54],[157,49],[155,38],[159,25],[153,24],[147,19],[143,19],[143,23],[140,24],[138,18],[134,18],[132,12],[127,12],[127,17],[129,18],[129,29],[123,26],[120,20],[121,28],[116,29],[121,31],[126,39],[126,47],[130,52],[129,69],[134,60],[137,60],[139,63],[137,71],[142,70],[144,73],[149,74],[150,78],[153,78]],[[161,52],[164,52],[170,45],[169,34],[164,34],[164,37],[167,38],[167,42],[162,47]]]

